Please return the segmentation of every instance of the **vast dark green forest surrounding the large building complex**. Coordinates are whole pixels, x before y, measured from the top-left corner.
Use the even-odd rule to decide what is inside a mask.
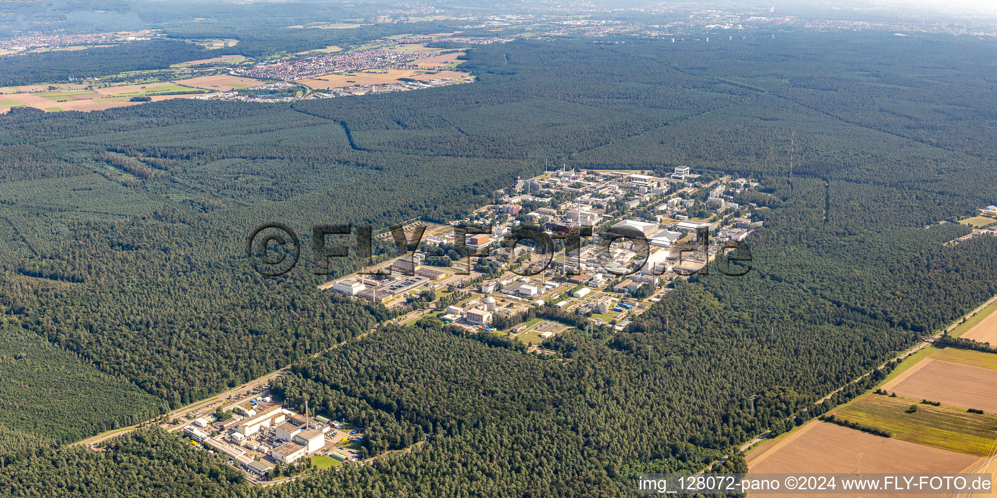
[[[997,294],[997,242],[945,247],[969,228],[922,228],[992,203],[993,188],[981,186],[997,184],[978,148],[993,139],[985,118],[931,115],[930,136],[907,118],[953,96],[991,105],[985,84],[964,76],[990,71],[966,61],[993,53],[978,40],[851,34],[849,44],[890,61],[870,76],[872,63],[833,43],[821,50],[836,59],[810,57],[837,40],[816,36],[710,51],[523,41],[469,51],[462,67],[478,83],[418,97],[0,117],[9,180],[0,305],[21,330],[169,406],[291,365],[275,388],[368,427],[369,454],[431,434],[369,466],[247,490],[156,431],[123,437],[110,453],[58,455],[24,449],[12,428],[9,444],[36,458],[6,460],[20,474],[0,472],[0,490],[144,455],[152,465],[95,473],[87,485],[128,489],[134,475],[162,484],[160,496],[626,496],[636,473],[701,470],[768,428],[789,428],[801,408]],[[901,43],[916,44],[917,61]],[[814,90],[828,86],[837,90]],[[799,154],[792,184],[789,128]],[[692,278],[614,336],[560,333],[544,343],[556,354],[548,360],[429,321],[308,359],[394,312],[316,291],[325,277],[312,274],[307,250],[280,278],[240,256],[263,222],[288,224],[308,248],[316,223],[462,218],[543,158],[759,178],[763,192],[737,199],[769,208],[749,239],[752,272]],[[74,426],[80,437],[97,430]],[[953,466],[964,457],[976,458],[951,456]],[[727,468],[743,464],[735,457]],[[174,474],[191,484],[169,484]]]

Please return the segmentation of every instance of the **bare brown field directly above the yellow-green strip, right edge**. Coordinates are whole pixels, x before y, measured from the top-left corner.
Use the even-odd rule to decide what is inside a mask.
[[[882,388],[904,397],[997,411],[997,371],[991,369],[928,358],[886,382]]]

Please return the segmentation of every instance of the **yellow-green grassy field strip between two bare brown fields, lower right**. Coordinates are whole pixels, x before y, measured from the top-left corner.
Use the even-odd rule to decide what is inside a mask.
[[[917,406],[917,411],[907,413],[911,404]],[[902,441],[976,456],[986,456],[997,438],[997,416],[922,404],[920,399],[902,396],[865,394],[833,413],[893,432],[893,437]]]

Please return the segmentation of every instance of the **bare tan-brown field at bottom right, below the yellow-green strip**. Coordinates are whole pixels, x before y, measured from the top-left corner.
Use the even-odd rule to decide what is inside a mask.
[[[976,467],[984,458],[881,437],[811,420],[771,446],[748,453],[751,473],[853,473],[862,454],[862,473],[945,473]],[[750,498],[787,494],[751,493]],[[821,496],[854,497],[853,494]],[[877,497],[909,496],[876,494]]]

